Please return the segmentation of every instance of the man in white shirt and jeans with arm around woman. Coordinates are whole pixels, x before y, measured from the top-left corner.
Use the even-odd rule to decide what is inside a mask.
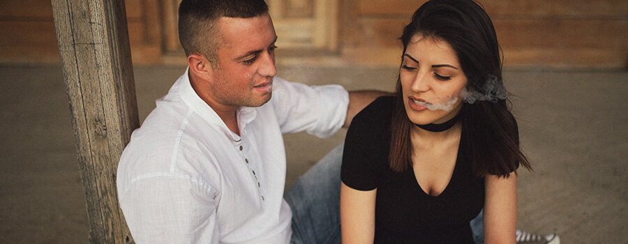
[[[284,199],[282,135],[334,135],[384,93],[275,78],[277,36],[262,0],[184,0],[179,37],[188,70],[133,132],[119,164],[119,201],[135,241],[337,243],[341,150]]]

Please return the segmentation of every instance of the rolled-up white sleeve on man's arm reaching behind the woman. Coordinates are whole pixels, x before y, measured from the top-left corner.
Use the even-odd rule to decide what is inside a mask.
[[[271,102],[283,134],[306,131],[327,138],[345,124],[349,93],[342,86],[306,86],[278,77],[274,86]]]

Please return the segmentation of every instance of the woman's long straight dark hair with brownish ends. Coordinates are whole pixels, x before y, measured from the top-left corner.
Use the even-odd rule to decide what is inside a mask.
[[[414,12],[412,22],[403,29],[400,38],[403,54],[415,34],[449,43],[468,79],[465,88],[471,93],[495,97],[496,91],[486,89],[486,86],[503,87],[500,45],[493,22],[479,3],[472,0],[428,1]],[[489,82],[491,84],[487,84]],[[390,167],[395,171],[412,169],[410,128],[413,124],[405,112],[403,100],[399,78],[389,155]],[[507,177],[518,164],[531,169],[530,162],[519,149],[517,125],[509,110],[510,101],[505,96],[463,104],[461,144],[465,143],[463,153],[469,158],[474,175]]]

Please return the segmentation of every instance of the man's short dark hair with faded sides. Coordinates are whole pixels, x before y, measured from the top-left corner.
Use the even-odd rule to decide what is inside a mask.
[[[205,56],[214,66],[220,46],[220,17],[250,18],[268,13],[264,0],[183,0],[179,5],[179,41],[186,52]]]

